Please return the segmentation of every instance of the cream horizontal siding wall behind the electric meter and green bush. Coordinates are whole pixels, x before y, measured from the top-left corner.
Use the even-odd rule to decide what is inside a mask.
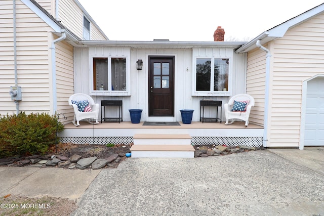
[[[16,104],[8,93],[10,86],[15,85],[13,5],[12,1],[0,4],[0,20],[6,22],[0,26],[0,114],[6,115],[16,113]],[[16,1],[16,17],[17,77],[23,97],[19,111],[50,112],[48,32],[52,29],[20,1]]]

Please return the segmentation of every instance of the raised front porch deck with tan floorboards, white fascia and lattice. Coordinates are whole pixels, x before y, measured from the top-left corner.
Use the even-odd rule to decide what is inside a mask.
[[[262,146],[262,126],[245,122],[235,122],[226,125],[225,122],[192,122],[180,125],[143,125],[143,122],[133,124],[130,121],[103,122],[89,124],[80,122],[80,126],[68,123],[64,130],[58,134],[61,142],[107,144],[107,143],[132,143],[136,134],[187,134],[192,145],[202,144],[226,144],[226,145],[249,145]]]

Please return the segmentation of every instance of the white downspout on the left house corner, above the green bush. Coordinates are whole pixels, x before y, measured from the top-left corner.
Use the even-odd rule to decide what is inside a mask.
[[[64,40],[66,35],[64,29],[61,29],[62,36],[52,41],[52,88],[53,88],[53,113],[56,112],[57,109],[57,100],[56,100],[56,55],[55,55],[55,44],[61,40]]]

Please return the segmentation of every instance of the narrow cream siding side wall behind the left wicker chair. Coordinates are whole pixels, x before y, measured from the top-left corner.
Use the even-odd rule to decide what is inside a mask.
[[[60,121],[67,123],[71,122],[74,114],[68,104],[69,97],[74,94],[73,47],[63,40],[55,45],[55,52],[57,113],[64,113],[67,119],[61,116]]]

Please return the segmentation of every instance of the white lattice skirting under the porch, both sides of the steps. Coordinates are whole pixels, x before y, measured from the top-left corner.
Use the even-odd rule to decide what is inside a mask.
[[[106,145],[125,144],[134,142],[133,137],[61,137],[62,143],[74,144],[97,144]],[[245,145],[250,147],[261,147],[263,145],[262,137],[192,137],[192,145],[227,145],[238,146]]]

